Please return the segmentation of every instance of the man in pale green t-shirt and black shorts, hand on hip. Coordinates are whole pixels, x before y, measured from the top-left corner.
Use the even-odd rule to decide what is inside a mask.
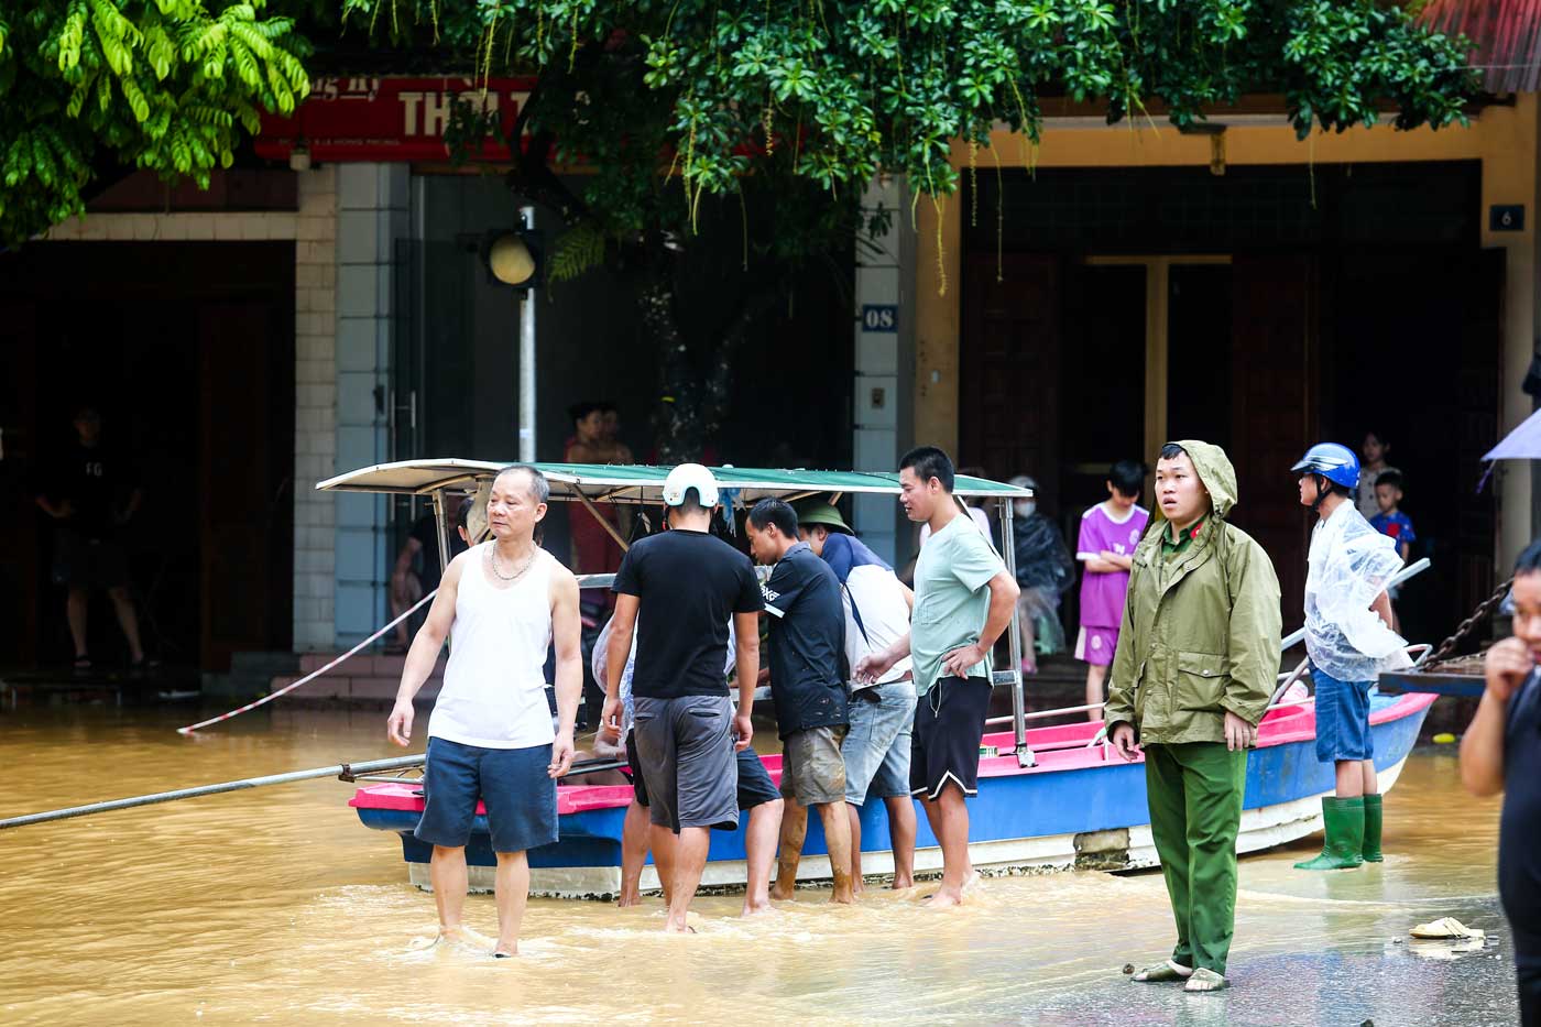
[[[942,843],[942,888],[935,907],[957,905],[974,877],[968,854],[965,797],[979,791],[979,742],[989,711],[991,649],[1011,623],[1017,581],[963,507],[952,498],[952,461],[923,446],[900,461],[900,504],[912,521],[931,526],[915,564],[915,609],[909,634],[855,666],[874,682],[914,657],[915,729],[909,790],[920,799]]]

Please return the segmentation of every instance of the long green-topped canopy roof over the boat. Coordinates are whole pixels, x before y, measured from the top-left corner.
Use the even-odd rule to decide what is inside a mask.
[[[507,464],[481,460],[405,460],[376,464],[328,478],[321,492],[387,492],[431,495],[439,489],[475,492]],[[664,478],[672,467],[640,464],[535,464],[552,484],[552,500],[581,503],[661,503]],[[770,470],[763,467],[712,467],[718,487],[737,492],[740,503],[767,497],[797,500],[811,495],[878,493],[898,495],[898,475],[869,470]],[[968,498],[1029,498],[1031,489],[988,478],[959,475],[954,495]]]

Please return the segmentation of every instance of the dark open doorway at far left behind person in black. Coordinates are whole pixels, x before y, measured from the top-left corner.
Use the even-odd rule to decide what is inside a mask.
[[[122,540],[151,655],[222,671],[236,649],[288,649],[294,245],[31,245],[0,258],[0,324],[26,393],[3,415],[22,446],[0,463],[0,530],[32,554],[6,560],[32,618],[8,652],[68,663],[54,532],[32,498],[72,444],[79,402],[100,407],[139,469],[145,504]],[[99,663],[126,658],[100,595],[89,635]]]

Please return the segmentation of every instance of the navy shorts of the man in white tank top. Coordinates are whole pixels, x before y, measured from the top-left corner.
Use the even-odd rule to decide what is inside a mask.
[[[550,745],[484,749],[428,739],[422,774],[419,842],[461,848],[470,840],[476,800],[487,805],[495,853],[522,853],[556,840],[556,782],[547,777]]]

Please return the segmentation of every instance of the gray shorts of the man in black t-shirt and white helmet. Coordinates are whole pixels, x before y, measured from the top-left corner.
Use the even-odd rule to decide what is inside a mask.
[[[652,822],[681,828],[738,827],[738,760],[727,695],[636,697],[636,757]]]

